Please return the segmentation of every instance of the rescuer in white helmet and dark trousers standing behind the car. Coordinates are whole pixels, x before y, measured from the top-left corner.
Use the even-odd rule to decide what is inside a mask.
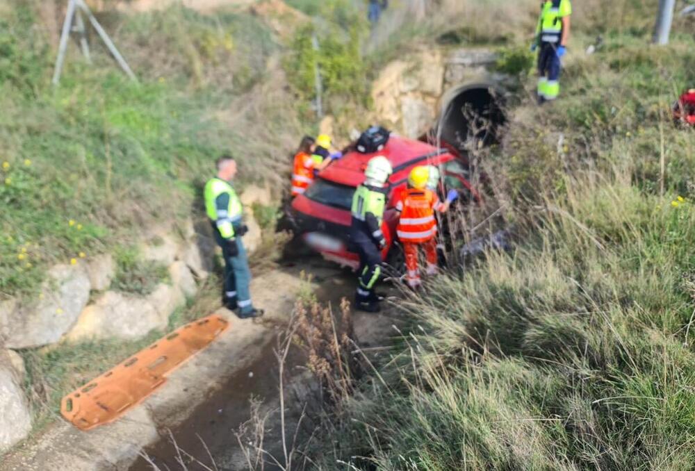
[[[382,272],[382,250],[386,247],[382,232],[386,207],[384,185],[391,173],[393,169],[389,159],[384,156],[371,158],[364,172],[365,181],[352,197],[350,239],[359,254],[355,307],[360,311],[379,312],[379,297],[374,286]]]

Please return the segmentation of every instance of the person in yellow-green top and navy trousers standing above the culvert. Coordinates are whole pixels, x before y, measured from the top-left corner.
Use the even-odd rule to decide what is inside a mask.
[[[569,39],[570,0],[547,0],[541,3],[536,38],[531,51],[538,51],[538,103],[557,99],[560,91],[559,76]]]

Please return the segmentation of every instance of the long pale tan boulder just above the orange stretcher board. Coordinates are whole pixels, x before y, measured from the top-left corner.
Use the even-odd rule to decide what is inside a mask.
[[[148,297],[108,291],[82,311],[67,340],[142,338],[154,329],[165,329],[169,315],[185,301],[180,290],[163,283]]]

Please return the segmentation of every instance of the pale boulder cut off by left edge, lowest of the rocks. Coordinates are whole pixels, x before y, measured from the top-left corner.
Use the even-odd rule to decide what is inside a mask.
[[[26,438],[31,415],[15,369],[5,352],[0,352],[0,452]]]

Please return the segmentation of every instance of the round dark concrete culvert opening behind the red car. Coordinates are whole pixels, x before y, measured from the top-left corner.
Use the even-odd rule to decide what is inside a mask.
[[[455,88],[446,94],[444,106],[430,139],[441,140],[466,154],[475,147],[494,144],[501,138],[505,124],[504,97],[491,83],[474,83]],[[471,142],[472,141],[472,142]]]

